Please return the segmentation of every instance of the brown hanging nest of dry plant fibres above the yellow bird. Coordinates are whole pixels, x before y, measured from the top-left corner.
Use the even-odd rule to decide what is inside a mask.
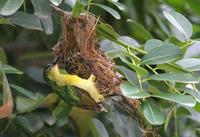
[[[96,76],[97,88],[101,94],[112,95],[120,92],[121,79],[114,72],[114,61],[101,51],[95,27],[98,21],[90,14],[85,18],[82,13],[72,18],[65,15],[61,41],[53,47],[55,57],[62,56],[61,66],[67,66],[69,74],[88,78],[90,73]]]

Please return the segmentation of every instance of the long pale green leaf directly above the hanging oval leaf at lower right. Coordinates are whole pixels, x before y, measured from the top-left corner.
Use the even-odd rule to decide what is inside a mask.
[[[156,98],[166,99],[169,101],[174,101],[189,107],[194,107],[196,104],[196,101],[192,97],[187,95],[180,95],[174,93],[160,93],[160,94],[153,94],[151,96]]]

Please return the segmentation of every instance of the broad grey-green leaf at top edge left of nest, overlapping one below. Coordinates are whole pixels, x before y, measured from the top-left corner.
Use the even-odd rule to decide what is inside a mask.
[[[51,6],[49,0],[31,0],[35,12],[39,18],[48,18],[51,16]]]

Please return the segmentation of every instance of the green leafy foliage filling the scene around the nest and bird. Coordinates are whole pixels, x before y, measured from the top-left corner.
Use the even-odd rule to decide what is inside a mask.
[[[59,39],[63,18],[52,12],[51,5],[72,11],[74,18],[84,9],[86,16],[89,11],[101,16],[102,23],[96,27],[102,38],[100,48],[117,64],[119,76],[124,80],[120,85],[123,95],[141,100],[141,113],[152,125],[147,124],[146,131],[160,128],[156,133],[163,137],[199,135],[199,2],[121,2],[1,2],[1,136],[86,136],[77,129],[91,130],[95,137],[142,135],[135,126],[137,122],[112,102],[106,102],[108,113],[72,113],[75,110],[46,86],[41,67],[50,62],[47,58],[51,58],[50,49]],[[78,128],[82,123],[74,120],[72,114],[87,116],[83,120],[87,126]]]

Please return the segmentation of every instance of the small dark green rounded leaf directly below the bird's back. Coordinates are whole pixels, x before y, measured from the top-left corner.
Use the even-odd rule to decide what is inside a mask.
[[[57,120],[65,119],[68,117],[69,113],[71,112],[73,106],[69,105],[66,102],[62,102],[53,110],[53,116]]]

